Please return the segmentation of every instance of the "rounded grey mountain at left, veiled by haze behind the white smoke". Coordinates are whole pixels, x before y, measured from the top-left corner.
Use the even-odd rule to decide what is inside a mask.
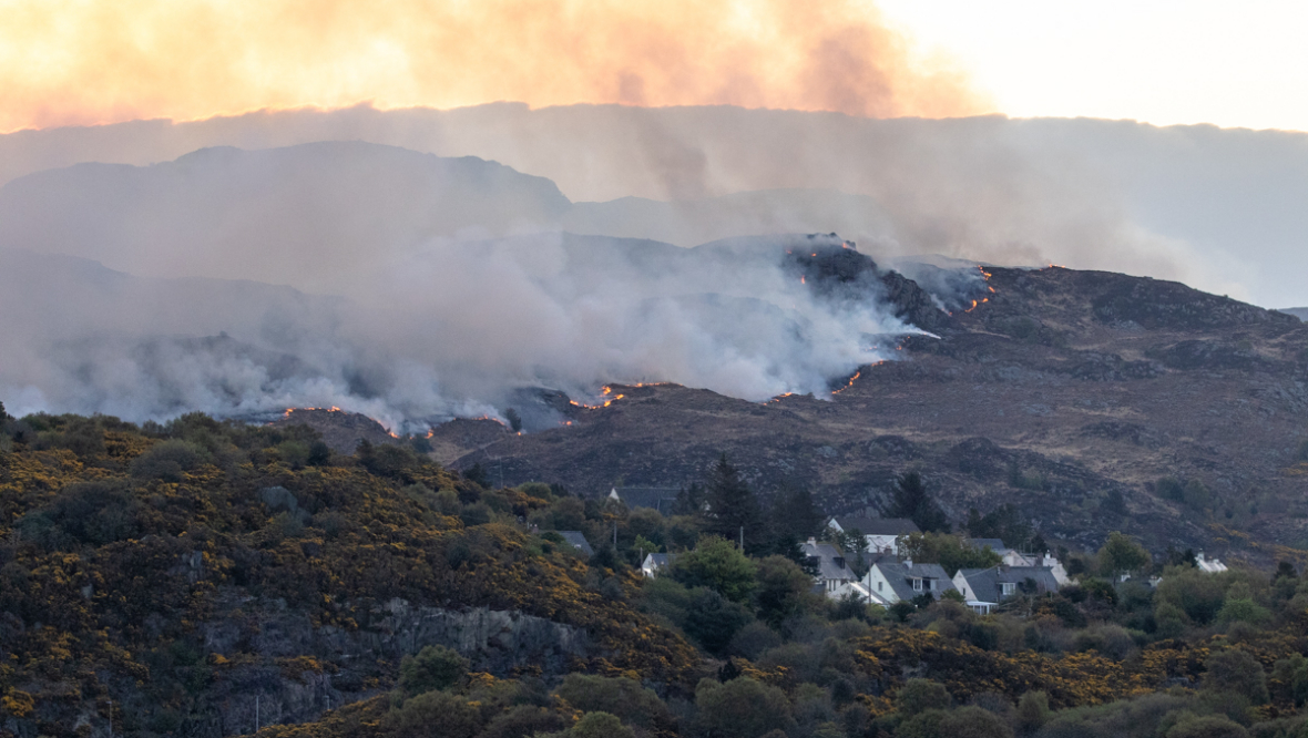
[[[13,181],[0,188],[0,247],[330,292],[434,238],[548,229],[568,207],[549,181],[475,157],[364,143],[212,148]]]

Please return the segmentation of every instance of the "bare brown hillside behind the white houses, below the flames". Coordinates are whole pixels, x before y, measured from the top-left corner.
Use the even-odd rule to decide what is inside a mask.
[[[725,451],[760,491],[803,485],[828,512],[876,506],[918,468],[955,519],[1012,502],[1080,546],[1121,529],[1159,551],[1305,547],[1308,327],[1176,283],[986,272],[976,308],[933,314],[939,338],[831,396],[615,387],[569,425],[479,433],[455,466],[598,495],[687,484]],[[437,434],[451,458],[459,434]]]

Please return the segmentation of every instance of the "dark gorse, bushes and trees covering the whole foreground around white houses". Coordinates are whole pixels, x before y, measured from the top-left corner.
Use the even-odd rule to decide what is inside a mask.
[[[1065,556],[1079,582],[1061,591],[892,616],[815,593],[794,546],[818,533],[812,500],[757,497],[726,458],[664,517],[490,488],[400,446],[324,453],[302,427],[0,407],[0,428],[7,735],[1308,734],[1308,584],[1288,563],[1210,574],[1114,533]],[[914,560],[995,563],[947,533],[921,476],[893,504],[927,531],[901,542]],[[1012,509],[964,527],[1039,540]],[[654,550],[678,556],[646,578]]]

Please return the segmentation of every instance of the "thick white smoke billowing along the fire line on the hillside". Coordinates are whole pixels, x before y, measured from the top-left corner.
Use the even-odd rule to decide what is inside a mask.
[[[783,256],[776,239],[436,238],[379,256],[332,298],[0,251],[12,317],[0,396],[20,413],[131,420],[336,406],[413,430],[497,415],[531,387],[582,400],[641,381],[825,395],[832,378],[886,359],[878,336],[914,331],[875,290],[825,298]]]

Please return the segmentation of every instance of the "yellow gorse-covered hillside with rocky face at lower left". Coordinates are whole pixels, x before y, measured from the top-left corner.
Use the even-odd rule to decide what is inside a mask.
[[[0,412],[0,730],[81,734],[112,700],[119,733],[218,737],[255,695],[264,725],[301,722],[433,644],[496,676],[684,678],[698,657],[621,595],[632,574],[515,525],[538,493],[303,425]]]

